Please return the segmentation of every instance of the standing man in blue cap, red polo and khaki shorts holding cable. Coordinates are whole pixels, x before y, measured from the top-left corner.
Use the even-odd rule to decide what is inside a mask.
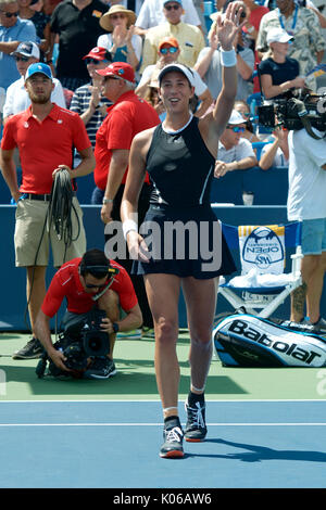
[[[15,264],[27,269],[27,303],[33,333],[32,341],[14,354],[14,359],[37,358],[42,353],[35,336],[35,320],[46,295],[50,245],[54,267],[83,255],[86,250],[82,209],[76,196],[72,200],[72,243],[66,245],[52,228],[49,231],[46,228],[54,176],[64,171],[74,179],[89,174],[95,167],[83,120],[77,114],[51,103],[54,87],[51,68],[42,63],[32,64],[25,75],[25,87],[32,104],[7,122],[0,158],[4,180],[17,204]],[[23,170],[20,188],[13,158],[15,148],[18,148]],[[82,161],[73,169],[74,148]]]

